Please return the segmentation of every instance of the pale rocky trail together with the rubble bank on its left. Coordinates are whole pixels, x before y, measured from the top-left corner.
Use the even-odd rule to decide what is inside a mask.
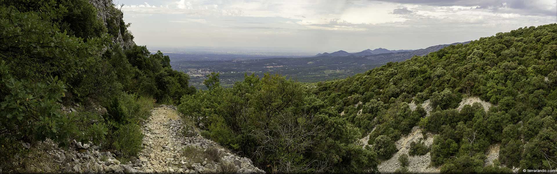
[[[19,157],[22,172],[50,173],[265,173],[251,159],[237,156],[202,137],[190,124],[183,123],[173,106],[152,110],[143,129],[143,149],[138,157],[119,161],[119,152],[102,151],[98,146],[72,142],[67,149],[44,141],[30,147],[32,153]],[[184,150],[185,149],[185,150]],[[2,172],[0,170],[0,172]]]

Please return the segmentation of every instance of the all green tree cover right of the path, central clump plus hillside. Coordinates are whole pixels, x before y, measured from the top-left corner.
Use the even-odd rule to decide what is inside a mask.
[[[378,171],[413,130],[433,143],[408,142],[409,154],[397,156],[396,166],[410,155],[431,161],[418,167],[441,172],[551,168],[556,32],[557,24],[519,28],[316,84],[266,74],[223,88],[213,73],[204,81],[208,90],[185,95],[178,110],[196,119],[204,136],[268,172]],[[460,104],[477,97],[494,106]],[[360,138],[369,138],[364,148]],[[500,144],[499,157],[485,162],[491,144]]]

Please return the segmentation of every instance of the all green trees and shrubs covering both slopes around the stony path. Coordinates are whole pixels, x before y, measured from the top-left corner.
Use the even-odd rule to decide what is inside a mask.
[[[129,24],[111,1],[0,4],[4,172],[20,171],[17,160],[30,153],[22,144],[47,139],[61,147],[74,139],[91,142],[131,160],[144,148],[141,126],[157,104],[177,105],[203,137],[266,172],[377,172],[397,151],[395,142],[415,127],[434,140],[431,147],[413,142],[408,156],[429,153],[429,165],[441,172],[557,166],[555,23],[448,46],[346,79],[308,84],[245,75],[223,88],[213,73],[204,81],[207,90],[196,90],[187,74],[172,70],[168,56],[132,44]],[[468,97],[492,107],[457,108]],[[491,144],[501,144],[499,157],[484,165]]]

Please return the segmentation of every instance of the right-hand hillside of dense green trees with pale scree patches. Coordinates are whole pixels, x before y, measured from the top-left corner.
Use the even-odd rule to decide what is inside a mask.
[[[424,133],[437,134],[431,161],[441,172],[492,170],[483,167],[485,153],[490,144],[499,143],[499,162],[506,167],[554,168],[556,59],[554,23],[390,62],[350,78],[318,83],[311,91],[363,132],[373,130],[369,143],[384,156],[394,150],[383,151],[388,146],[377,141],[387,136],[392,143],[419,125]],[[469,97],[494,106],[457,110]],[[411,112],[409,103],[419,108],[426,100],[433,108],[430,116]]]

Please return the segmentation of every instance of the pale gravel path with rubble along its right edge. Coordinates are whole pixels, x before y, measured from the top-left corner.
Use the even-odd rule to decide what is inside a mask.
[[[265,173],[253,166],[251,159],[236,156],[202,137],[193,125],[182,122],[175,109],[165,105],[155,108],[143,125],[143,151],[136,159],[136,163],[141,163],[139,172],[214,173],[232,170],[237,173]],[[184,157],[182,151],[185,147],[197,150]],[[211,154],[211,148],[216,153]],[[214,159],[208,159],[211,157]],[[226,171],[223,171],[222,165],[228,165]]]

